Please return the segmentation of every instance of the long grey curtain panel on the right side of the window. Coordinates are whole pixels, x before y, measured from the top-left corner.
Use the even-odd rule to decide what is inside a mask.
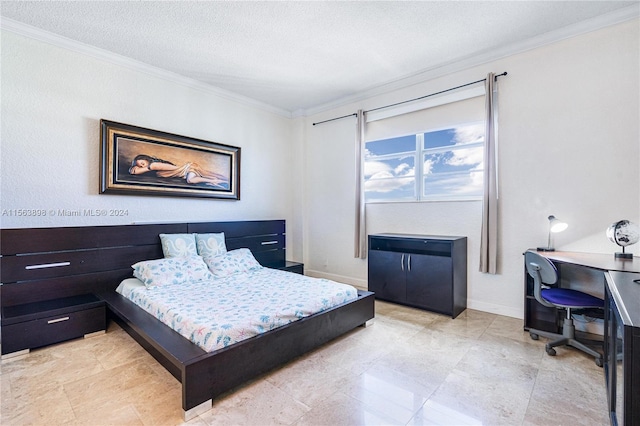
[[[484,199],[480,239],[480,272],[497,273],[498,257],[498,87],[495,75],[485,81]]]

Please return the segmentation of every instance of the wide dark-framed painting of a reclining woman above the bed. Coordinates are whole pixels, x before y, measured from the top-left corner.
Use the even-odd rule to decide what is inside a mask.
[[[240,199],[240,148],[100,120],[100,193]]]

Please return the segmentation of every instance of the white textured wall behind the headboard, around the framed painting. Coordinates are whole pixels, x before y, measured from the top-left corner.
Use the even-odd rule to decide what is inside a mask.
[[[289,258],[301,258],[289,118],[9,31],[1,112],[2,228],[286,219]],[[241,147],[241,200],[99,194],[101,118]],[[12,215],[20,209],[47,214]],[[128,215],[50,213],[60,209]]]

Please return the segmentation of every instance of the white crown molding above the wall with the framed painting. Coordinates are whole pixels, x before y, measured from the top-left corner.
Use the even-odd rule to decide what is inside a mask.
[[[264,102],[257,101],[247,96],[242,96],[237,93],[233,93],[219,87],[215,87],[210,84],[202,83],[182,76],[180,74],[164,70],[162,68],[155,67],[153,65],[146,64],[144,62],[136,61],[126,56],[119,55],[117,53],[110,52],[99,47],[91,46],[86,43],[82,43],[76,40],[72,40],[68,37],[64,37],[58,34],[44,31],[40,28],[33,27],[31,25],[24,24],[19,21],[15,21],[10,18],[0,18],[0,29],[11,31],[13,33],[22,35],[24,37],[32,38],[44,43],[61,47],[63,49],[71,50],[82,55],[90,56],[105,62],[109,62],[114,65],[119,65],[124,68],[128,68],[133,71],[139,71],[153,77],[161,78],[173,83],[180,84],[182,86],[195,89],[204,93],[219,96],[221,98],[238,102],[240,104],[248,105],[251,107],[259,108],[274,114],[282,115],[286,118],[291,118],[291,112],[282,108],[277,108]]]

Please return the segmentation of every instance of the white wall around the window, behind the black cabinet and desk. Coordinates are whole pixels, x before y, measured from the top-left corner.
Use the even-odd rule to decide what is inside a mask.
[[[546,245],[547,216],[570,224],[555,246],[613,253],[604,234],[640,218],[640,58],[634,20],[504,58],[306,120],[305,267],[366,287],[353,258],[355,119],[313,122],[412,99],[508,72],[499,80],[499,274],[478,272],[480,202],[375,204],[368,233],[468,237],[468,305],[521,318],[522,253]],[[631,251],[640,253],[640,245]]]

